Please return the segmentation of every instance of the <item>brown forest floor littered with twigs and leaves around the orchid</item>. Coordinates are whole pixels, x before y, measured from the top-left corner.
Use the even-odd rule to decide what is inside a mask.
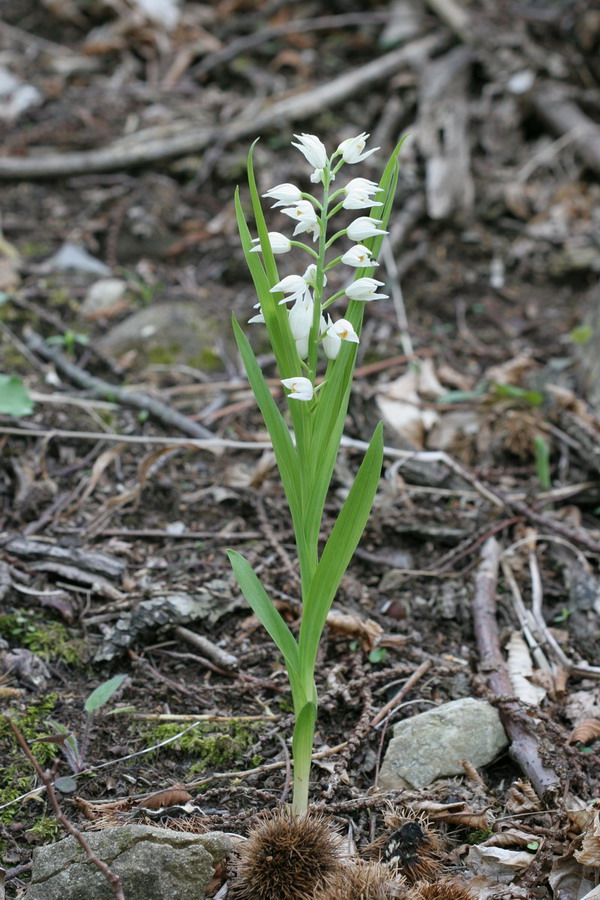
[[[358,174],[375,179],[409,135],[377,270],[391,299],[367,310],[323,523],[383,419],[380,490],[320,650],[311,796],[359,847],[390,796],[427,813],[479,897],[596,897],[600,14],[578,0],[169,11],[167,32],[134,0],[23,0],[0,23],[1,368],[19,379],[0,394],[4,709],[80,827],[191,795],[245,833],[286,799],[285,670],[226,556],[244,553],[295,630],[290,518],[231,334],[256,302],[234,189],[248,208],[256,137],[264,192],[306,181],[293,132],[331,148],[369,132],[381,151]],[[394,723],[467,696],[509,733],[525,723],[548,780],[509,753],[378,793]],[[6,720],[0,765],[14,897],[33,848],[63,832]]]

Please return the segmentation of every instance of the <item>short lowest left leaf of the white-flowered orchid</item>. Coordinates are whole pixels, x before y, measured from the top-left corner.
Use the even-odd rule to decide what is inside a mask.
[[[283,621],[281,614],[273,606],[271,598],[260,583],[248,560],[236,550],[228,550],[227,556],[248,605],[283,653],[294,696],[294,706],[300,708],[302,705],[300,702],[302,682],[300,679],[298,644],[294,635]]]

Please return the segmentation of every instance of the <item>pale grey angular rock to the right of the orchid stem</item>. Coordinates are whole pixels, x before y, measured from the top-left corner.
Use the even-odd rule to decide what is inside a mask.
[[[398,722],[379,777],[385,790],[422,788],[436,778],[462,775],[459,760],[479,768],[508,746],[497,709],[465,697]]]

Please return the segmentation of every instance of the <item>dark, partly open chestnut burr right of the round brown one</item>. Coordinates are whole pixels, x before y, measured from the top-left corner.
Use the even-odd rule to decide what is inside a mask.
[[[440,872],[440,841],[423,821],[406,819],[387,839],[383,860],[414,884],[432,881]]]

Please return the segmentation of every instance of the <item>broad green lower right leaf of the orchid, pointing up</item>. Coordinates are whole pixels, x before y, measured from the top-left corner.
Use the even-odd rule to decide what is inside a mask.
[[[298,645],[302,672],[313,672],[327,613],[364,531],[383,461],[383,426],[375,429],[354,484],[325,544],[304,601]]]

